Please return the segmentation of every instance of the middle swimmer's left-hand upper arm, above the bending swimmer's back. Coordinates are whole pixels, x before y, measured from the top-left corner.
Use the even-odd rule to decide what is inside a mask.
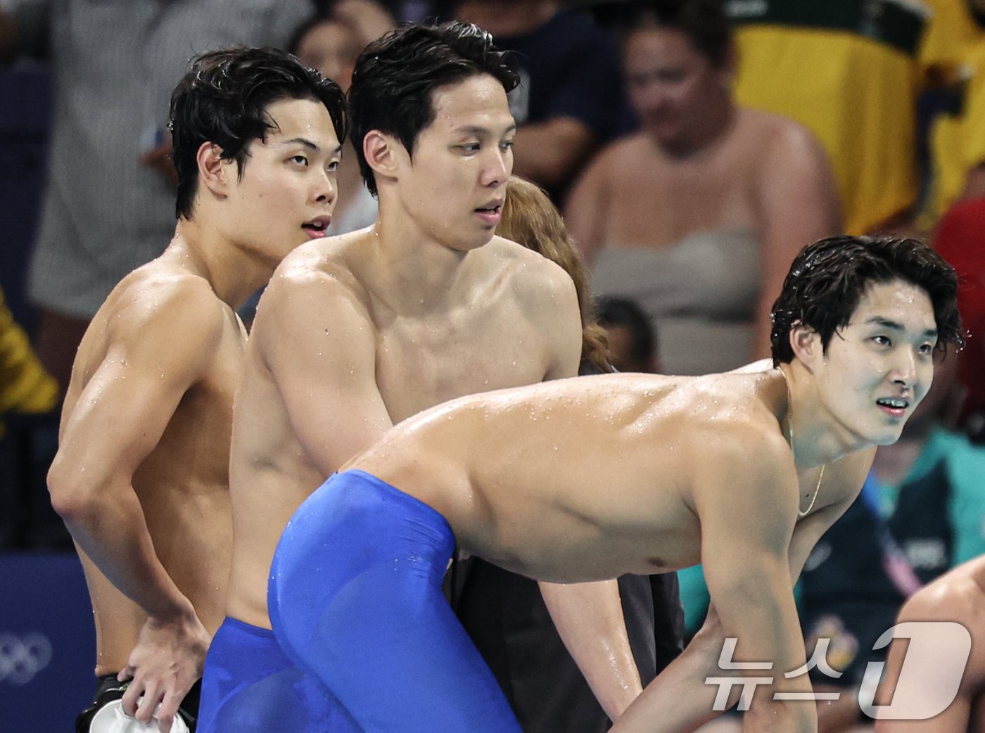
[[[376,384],[374,333],[350,287],[324,272],[275,275],[258,309],[255,348],[325,477],[392,426]]]

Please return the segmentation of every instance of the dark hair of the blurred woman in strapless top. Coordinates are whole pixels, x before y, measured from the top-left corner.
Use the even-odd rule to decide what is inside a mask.
[[[619,6],[615,24],[624,37],[653,26],[684,33],[717,68],[732,47],[732,24],[721,0],[630,0]]]

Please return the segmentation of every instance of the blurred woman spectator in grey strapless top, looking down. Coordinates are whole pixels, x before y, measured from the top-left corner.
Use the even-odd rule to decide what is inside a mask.
[[[624,11],[624,67],[642,129],[602,151],[565,207],[597,295],[639,302],[663,369],[699,374],[769,352],[769,310],[794,255],[840,230],[821,146],[732,100],[717,0]]]

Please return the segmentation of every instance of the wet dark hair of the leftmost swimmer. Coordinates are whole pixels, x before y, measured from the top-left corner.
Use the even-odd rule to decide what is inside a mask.
[[[267,108],[280,100],[312,100],[328,109],[339,140],[346,138],[346,99],[339,85],[306,69],[279,48],[236,46],[195,58],[171,93],[167,127],[178,174],[177,217],[190,219],[198,191],[196,157],[214,143],[223,160],[235,161],[239,176],[249,144],[264,140],[274,122]]]

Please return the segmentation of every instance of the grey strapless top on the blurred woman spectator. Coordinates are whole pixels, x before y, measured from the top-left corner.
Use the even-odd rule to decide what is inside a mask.
[[[639,303],[656,326],[664,373],[741,367],[753,356],[759,242],[734,230],[657,249],[605,247],[592,266],[592,292]]]

